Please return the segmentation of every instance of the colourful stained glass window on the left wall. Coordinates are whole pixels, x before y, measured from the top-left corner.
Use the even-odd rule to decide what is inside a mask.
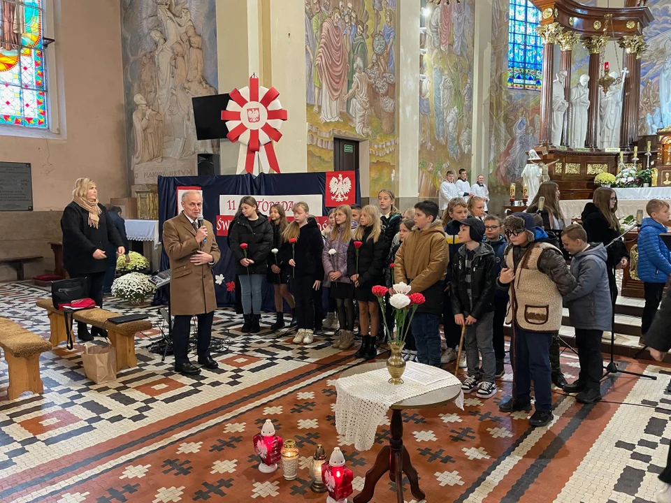
[[[0,0],[0,124],[46,129],[43,0]]]

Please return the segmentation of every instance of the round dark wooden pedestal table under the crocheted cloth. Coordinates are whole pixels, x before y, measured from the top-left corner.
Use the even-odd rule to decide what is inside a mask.
[[[358,365],[345,370],[340,377],[350,377],[371,370],[385,368],[387,363],[375,362]],[[445,372],[447,374],[447,372]],[[403,445],[403,416],[401,411],[405,409],[430,409],[440,407],[452,402],[461,393],[461,384],[454,384],[447,388],[440,388],[430,393],[424,393],[413,398],[408,398],[397,402],[391,406],[391,439],[389,445],[382,447],[382,450],[375,459],[373,468],[366,472],[366,482],[363,484],[361,493],[354,497],[354,503],[368,503],[373,499],[375,486],[380,481],[382,475],[389,472],[389,480],[396,483],[396,498],[398,503],[403,503],[403,474],[407,476],[410,483],[410,493],[417,501],[425,500],[424,491],[419,488],[419,476],[417,470],[412,466],[410,453]]]

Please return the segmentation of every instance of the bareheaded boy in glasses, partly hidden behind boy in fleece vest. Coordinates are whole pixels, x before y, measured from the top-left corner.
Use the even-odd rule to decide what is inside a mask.
[[[503,232],[503,221],[496,215],[489,215],[484,219],[484,235],[487,245],[494,250],[494,273],[495,276],[501,272],[503,264],[503,254],[507,243],[501,233]],[[505,313],[508,307],[508,292],[502,289],[496,289],[494,293],[494,318],[493,318],[493,346],[494,356],[496,357],[496,377],[503,377],[505,369],[503,360],[505,359],[505,337],[503,336],[503,324],[505,323]]]

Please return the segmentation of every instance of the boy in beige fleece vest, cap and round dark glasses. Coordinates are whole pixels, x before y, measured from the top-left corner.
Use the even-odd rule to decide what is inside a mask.
[[[513,396],[499,410],[530,411],[533,379],[536,411],[529,424],[545,426],[553,418],[550,344],[561,327],[562,296],[575,288],[575,279],[532,214],[514,213],[503,228],[510,246],[498,286],[510,291],[514,378]]]

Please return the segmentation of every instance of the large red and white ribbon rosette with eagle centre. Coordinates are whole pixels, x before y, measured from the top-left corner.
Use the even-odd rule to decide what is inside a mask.
[[[259,85],[259,78],[252,75],[249,87],[233,89],[231,101],[222,110],[222,120],[226,121],[229,138],[240,141],[238,156],[238,174],[253,173],[261,170],[280,173],[273,141],[280,141],[282,122],[287,120],[287,110],[282,109],[280,92],[271,87]],[[258,155],[257,155],[258,154]],[[259,168],[260,165],[260,168]]]

